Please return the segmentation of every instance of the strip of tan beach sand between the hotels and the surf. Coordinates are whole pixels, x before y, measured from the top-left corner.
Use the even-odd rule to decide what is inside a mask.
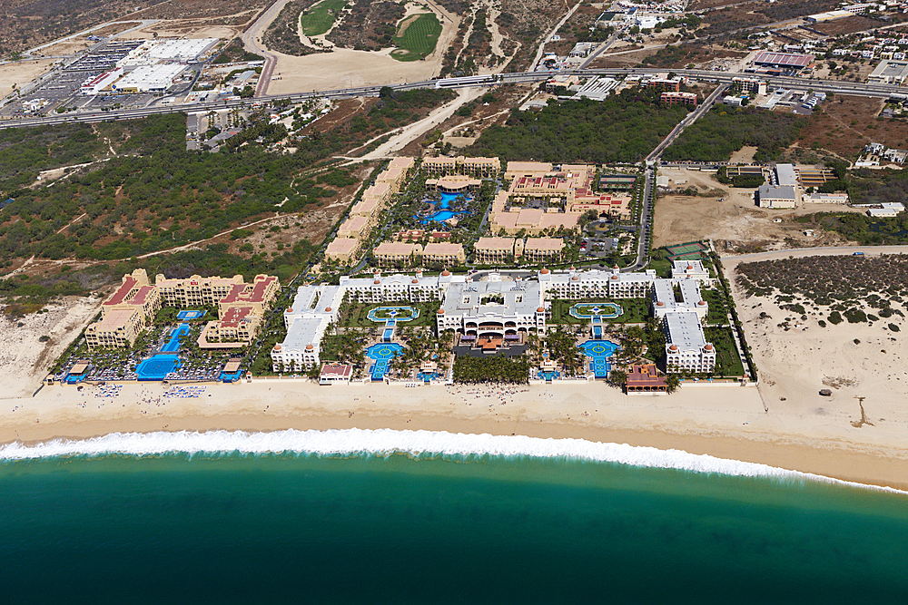
[[[908,490],[902,427],[866,431],[766,413],[760,394],[749,387],[687,385],[667,397],[627,397],[596,383],[369,389],[286,381],[207,385],[199,398],[160,403],[164,390],[124,385],[120,395],[98,398],[94,389],[81,395],[72,386],[54,385],[33,399],[0,400],[0,444],[159,431],[519,434],[681,450]]]

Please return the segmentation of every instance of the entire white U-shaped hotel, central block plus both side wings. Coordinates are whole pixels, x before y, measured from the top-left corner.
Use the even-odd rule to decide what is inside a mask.
[[[367,304],[439,301],[439,333],[451,329],[470,340],[544,334],[546,298],[554,295],[568,300],[650,298],[653,313],[662,320],[666,334],[667,370],[712,372],[716,349],[706,342],[700,323],[708,311],[700,284],[711,281],[709,273],[698,261],[679,261],[672,275],[671,279],[662,279],[656,278],[653,270],[621,273],[617,269],[571,268],[552,273],[543,268],[538,280],[503,281],[492,273],[487,281],[468,282],[465,276],[446,270],[431,277],[421,272],[385,277],[376,273],[372,278],[341,278],[338,286],[303,286],[292,307],[284,311],[287,337],[271,349],[272,366],[275,371],[287,371],[321,364],[321,338],[337,321],[345,297]],[[676,296],[676,289],[680,296]]]

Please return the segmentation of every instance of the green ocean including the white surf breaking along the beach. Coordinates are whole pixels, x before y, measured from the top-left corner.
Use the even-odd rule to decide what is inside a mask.
[[[908,494],[400,431],[0,447],[0,603],[903,603]]]

